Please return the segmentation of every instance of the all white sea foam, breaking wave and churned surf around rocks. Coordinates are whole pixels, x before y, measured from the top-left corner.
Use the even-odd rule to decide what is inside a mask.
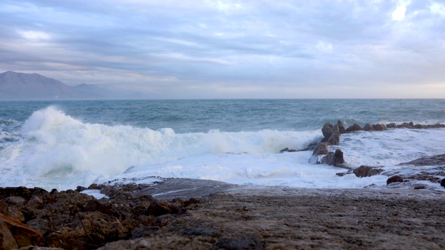
[[[316,131],[175,133],[132,126],[88,124],[51,106],[24,122],[22,139],[0,151],[2,186],[40,186],[51,190],[91,183],[150,183],[161,177],[200,178],[227,183],[286,185],[298,188],[385,186],[387,176],[339,177],[344,169],[312,165],[320,140]],[[395,129],[341,135],[348,164],[402,169],[398,163],[443,153],[443,129]]]

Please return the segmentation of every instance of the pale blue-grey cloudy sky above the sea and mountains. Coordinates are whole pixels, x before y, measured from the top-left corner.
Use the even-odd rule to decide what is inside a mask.
[[[0,1],[0,72],[161,99],[445,98],[445,1]]]

